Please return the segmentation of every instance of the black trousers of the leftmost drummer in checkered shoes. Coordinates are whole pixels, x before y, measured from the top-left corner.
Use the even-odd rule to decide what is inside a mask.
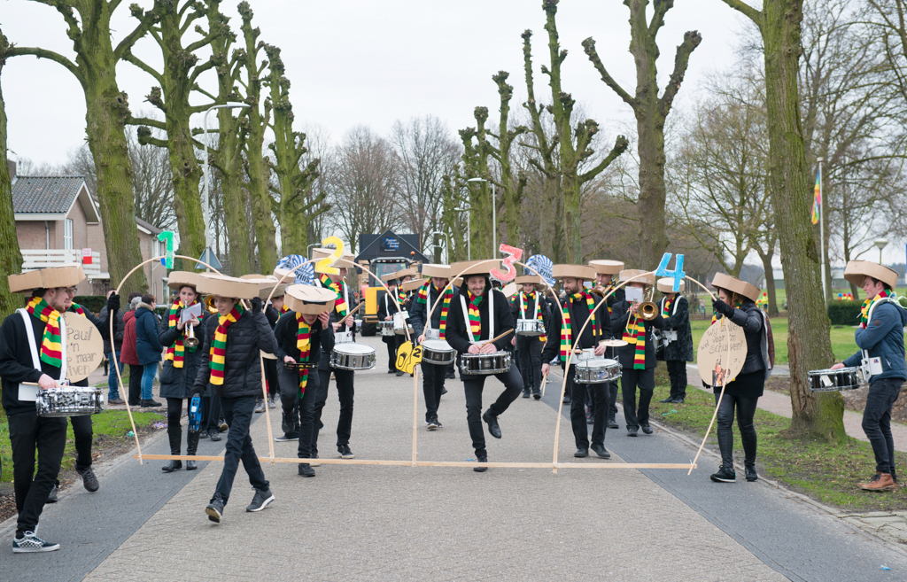
[[[66,419],[40,418],[36,412],[7,417],[13,447],[13,489],[19,512],[17,532],[34,531],[47,496],[54,489],[66,449]],[[34,451],[38,470],[34,471]]]

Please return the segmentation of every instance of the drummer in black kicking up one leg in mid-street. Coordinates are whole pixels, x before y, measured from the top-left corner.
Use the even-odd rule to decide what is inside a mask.
[[[459,354],[493,354],[505,350],[511,343],[510,337],[506,335],[493,344],[487,342],[513,329],[513,318],[507,298],[500,291],[492,289],[489,280],[489,272],[493,267],[500,268],[500,263],[465,261],[451,266],[452,273],[463,273],[463,286],[451,301],[445,339]],[[501,427],[498,424],[498,416],[507,410],[522,391],[522,378],[512,366],[507,372],[494,375],[504,384],[504,391],[488,410],[482,413],[482,391],[487,376],[464,374],[463,370],[460,371],[460,379],[463,380],[463,389],[466,392],[466,421],[469,423],[476,461],[479,462],[488,461],[482,422],[488,424],[488,432],[495,439],[500,439]],[[473,468],[476,472],[484,472],[487,469],[487,467]]]

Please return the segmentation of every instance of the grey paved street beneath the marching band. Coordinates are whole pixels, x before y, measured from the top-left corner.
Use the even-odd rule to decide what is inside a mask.
[[[384,345],[374,370],[356,373],[350,442],[357,459],[408,460],[413,381],[386,370]],[[551,461],[557,378],[541,402],[517,399],[501,417],[503,438],[487,438],[489,461]],[[421,382],[421,380],[420,380]],[[424,430],[419,390],[420,460],[473,458],[462,383],[448,381],[439,412],[444,428]],[[502,390],[486,382],[485,405]],[[320,433],[322,457],[336,458],[338,405],[331,387]],[[565,411],[566,412],[566,411]],[[272,422],[276,419],[272,418]],[[611,461],[574,460],[569,419],[561,422],[560,461],[688,462],[695,447],[664,430],[629,439],[608,432]],[[277,426],[277,424],[276,424]],[[259,414],[252,438],[268,455]],[[163,435],[161,434],[161,437]],[[165,438],[143,451],[163,452]],[[200,454],[222,454],[202,441]],[[296,443],[275,443],[294,457]],[[266,465],[277,500],[246,513],[252,498],[239,470],[220,525],[203,509],[219,462],[171,475],[164,461],[116,461],[102,489],[71,488],[44,511],[41,534],[63,549],[13,556],[13,521],[0,525],[4,579],[565,579],[898,580],[907,554],[812,502],[765,482],[718,485],[717,466],[699,469],[551,470],[322,465],[315,479],[293,464]],[[883,570],[880,566],[890,567]]]

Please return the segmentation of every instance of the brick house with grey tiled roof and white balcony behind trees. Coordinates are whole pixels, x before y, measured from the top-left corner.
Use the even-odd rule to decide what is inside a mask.
[[[103,295],[110,289],[107,248],[101,213],[94,203],[83,176],[16,176],[10,163],[13,182],[15,231],[22,251],[23,271],[54,267],[63,263],[83,263],[87,277],[76,290],[78,295]],[[160,256],[161,243],[155,228],[136,218],[143,259]],[[166,270],[161,265],[146,265],[151,293],[160,300],[166,287]]]

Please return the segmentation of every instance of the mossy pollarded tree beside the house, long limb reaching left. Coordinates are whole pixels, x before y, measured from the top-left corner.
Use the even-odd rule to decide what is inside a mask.
[[[14,46],[7,56],[32,55],[59,63],[82,85],[85,97],[85,132],[98,173],[98,201],[112,285],[118,286],[132,267],[141,263],[139,231],[135,227],[132,164],[126,144],[129,99],[120,91],[116,65],[157,21],[155,11],[130,6],[139,24],[113,46],[111,18],[120,0],[35,0],[51,5],[63,16],[66,34],[73,41],[75,61],[35,46]],[[148,281],[139,269],[122,293],[144,291]]]

